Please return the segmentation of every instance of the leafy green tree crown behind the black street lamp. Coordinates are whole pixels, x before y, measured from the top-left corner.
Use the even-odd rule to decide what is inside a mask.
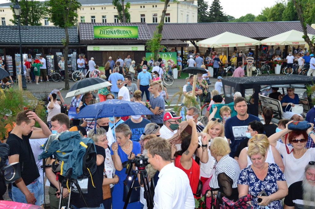
[[[13,6],[16,0],[11,0],[12,5],[10,8],[14,14]],[[39,1],[28,1],[28,0],[20,0],[19,5],[21,7],[21,16],[20,16],[20,24],[21,25],[42,25],[40,20],[44,19],[47,15],[47,7],[45,3]],[[10,21],[15,24],[17,22],[15,15],[13,15],[14,19],[10,19]]]

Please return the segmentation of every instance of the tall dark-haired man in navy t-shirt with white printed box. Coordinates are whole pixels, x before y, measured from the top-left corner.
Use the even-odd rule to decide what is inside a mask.
[[[247,124],[251,121],[260,121],[258,117],[247,113],[247,103],[243,97],[237,97],[234,100],[234,110],[237,115],[227,119],[224,126],[225,137],[231,148],[231,157],[234,156],[239,144],[247,138],[245,133],[248,128]]]

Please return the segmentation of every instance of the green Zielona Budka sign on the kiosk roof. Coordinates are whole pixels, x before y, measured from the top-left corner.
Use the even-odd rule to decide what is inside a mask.
[[[138,26],[93,26],[94,38],[138,38]]]

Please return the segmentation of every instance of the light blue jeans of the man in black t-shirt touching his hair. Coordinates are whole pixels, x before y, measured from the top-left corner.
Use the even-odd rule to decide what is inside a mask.
[[[26,186],[27,189],[34,193],[34,197],[36,199],[35,205],[41,206],[44,203],[44,187],[43,184],[37,178],[37,181],[34,184],[29,184]],[[21,192],[21,190],[12,185],[12,200],[14,202],[28,203],[26,202],[25,195]]]

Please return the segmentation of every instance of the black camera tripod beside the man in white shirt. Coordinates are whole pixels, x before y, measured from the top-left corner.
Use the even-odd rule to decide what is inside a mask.
[[[146,167],[138,167],[138,170],[135,171],[134,176],[132,178],[131,186],[128,191],[128,195],[126,197],[125,205],[123,206],[123,209],[127,208],[129,198],[132,192],[132,189],[134,188],[135,180],[137,178],[137,174],[140,174],[140,184],[144,186],[144,192],[147,196],[147,204],[148,204],[148,209],[153,209],[154,203],[151,195],[151,190],[149,186],[149,178],[148,178],[148,173],[146,172]],[[125,184],[125,183],[124,183]],[[126,182],[127,184],[127,182]],[[151,181],[151,184],[154,184],[153,181]]]

